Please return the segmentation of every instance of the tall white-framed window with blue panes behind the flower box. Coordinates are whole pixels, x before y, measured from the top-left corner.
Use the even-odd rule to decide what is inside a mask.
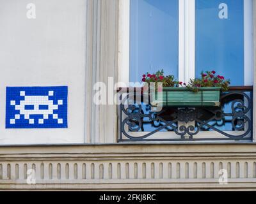
[[[202,71],[216,70],[233,86],[253,84],[252,0],[124,0],[120,8],[120,81],[140,82],[147,71],[164,69],[164,74],[188,82]],[[149,113],[146,105],[141,108]],[[225,110],[231,110],[230,103]],[[221,131],[236,130],[232,119],[225,119],[224,124],[209,123]],[[143,137],[162,126],[150,120],[132,134]],[[218,134],[204,128],[209,138]],[[163,128],[157,137],[170,138],[170,131]]]

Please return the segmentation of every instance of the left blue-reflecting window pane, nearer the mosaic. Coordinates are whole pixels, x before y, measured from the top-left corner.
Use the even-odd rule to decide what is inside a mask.
[[[131,0],[130,82],[164,69],[178,77],[179,0]]]

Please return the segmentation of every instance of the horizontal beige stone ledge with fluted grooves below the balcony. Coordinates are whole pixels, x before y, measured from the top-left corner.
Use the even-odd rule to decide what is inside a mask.
[[[35,185],[27,184],[29,169]],[[253,143],[1,147],[1,189],[255,190],[256,150]]]

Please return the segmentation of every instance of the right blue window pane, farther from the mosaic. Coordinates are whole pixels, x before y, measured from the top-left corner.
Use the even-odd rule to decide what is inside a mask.
[[[196,77],[216,70],[244,85],[244,1],[196,0]]]

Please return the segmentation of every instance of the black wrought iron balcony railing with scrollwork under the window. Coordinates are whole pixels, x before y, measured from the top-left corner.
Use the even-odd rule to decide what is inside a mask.
[[[251,86],[230,87],[221,93],[220,106],[164,106],[159,112],[152,111],[150,103],[137,103],[135,96],[138,99],[140,91],[121,90],[118,142],[252,141]]]

